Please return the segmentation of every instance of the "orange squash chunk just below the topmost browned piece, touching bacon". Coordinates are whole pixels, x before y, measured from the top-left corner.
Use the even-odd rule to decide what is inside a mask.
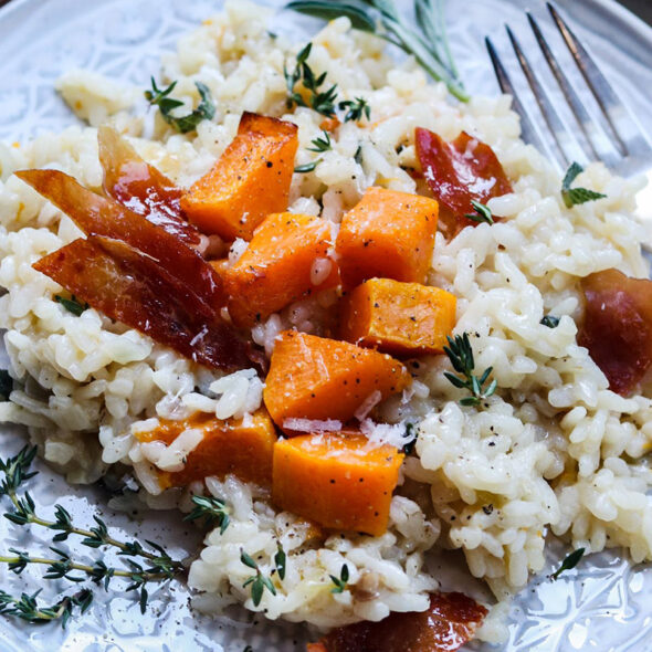
[[[253,326],[294,301],[337,285],[337,264],[328,257],[332,246],[327,221],[295,213],[270,215],[240,260],[224,272],[233,323]],[[323,280],[313,277],[319,263],[328,274]],[[320,283],[315,285],[315,280]]]

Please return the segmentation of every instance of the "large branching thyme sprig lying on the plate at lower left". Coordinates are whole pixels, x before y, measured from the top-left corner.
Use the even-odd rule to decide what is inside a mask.
[[[24,446],[17,455],[0,460],[0,496],[7,496],[11,502],[11,508],[4,513],[4,517],[18,526],[36,525],[56,532],[57,534],[52,537],[53,543],[61,543],[71,535],[76,535],[82,537],[81,544],[88,548],[112,547],[117,550],[118,556],[128,559],[124,560],[123,568],[107,566],[102,559],[82,564],[73,559],[66,550],[51,546],[52,557],[32,556],[30,553],[10,548],[8,555],[0,555],[0,564],[7,564],[17,575],[22,574],[28,566],[45,566],[44,579],[65,579],[73,583],[91,580],[96,585],[103,585],[105,590],[108,590],[114,578],[123,578],[129,581],[125,590],[138,595],[140,610],[145,612],[149,598],[147,585],[173,579],[185,571],[182,562],[172,559],[165,548],[155,541],[146,540],[145,544],[149,548],[147,549],[138,540],[120,541],[114,538],[106,523],[96,515],[95,525],[88,529],[74,525],[71,514],[59,504],[54,505],[53,520],[39,515],[29,492],[22,495],[18,493],[24,482],[36,475],[36,472],[30,471],[35,454],[35,446]],[[75,608],[83,613],[92,600],[92,593],[81,591],[72,597],[62,598],[53,607],[40,607],[36,597],[38,592],[31,596],[22,593],[20,598],[13,598],[2,591],[0,612],[30,622],[60,619],[62,624],[65,624],[75,612]]]

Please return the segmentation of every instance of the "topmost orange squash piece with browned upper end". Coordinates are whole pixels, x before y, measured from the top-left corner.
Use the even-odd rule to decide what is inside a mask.
[[[243,113],[214,167],[181,197],[188,220],[204,233],[250,240],[265,215],[287,208],[297,147],[296,125]]]

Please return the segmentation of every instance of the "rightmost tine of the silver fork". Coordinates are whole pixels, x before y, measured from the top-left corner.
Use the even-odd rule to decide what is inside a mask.
[[[591,59],[585,46],[578,41],[566,21],[559,15],[557,9],[550,2],[547,2],[546,4],[557,29],[566,41],[566,45],[568,45],[575,62],[589,85],[591,93],[602,109],[611,132],[610,136],[619,151],[623,156],[649,156],[650,153],[652,153],[652,147],[648,145],[641,132],[635,127],[629,112],[613,91],[611,84],[600,72],[596,62]],[[621,136],[617,125],[621,127],[621,130],[624,130],[624,136]]]

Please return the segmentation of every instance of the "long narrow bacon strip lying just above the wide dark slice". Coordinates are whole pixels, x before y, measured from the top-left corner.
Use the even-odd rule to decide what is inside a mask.
[[[87,235],[122,240],[151,256],[213,312],[225,304],[219,274],[176,235],[59,170],[22,170],[15,175],[70,215]]]

